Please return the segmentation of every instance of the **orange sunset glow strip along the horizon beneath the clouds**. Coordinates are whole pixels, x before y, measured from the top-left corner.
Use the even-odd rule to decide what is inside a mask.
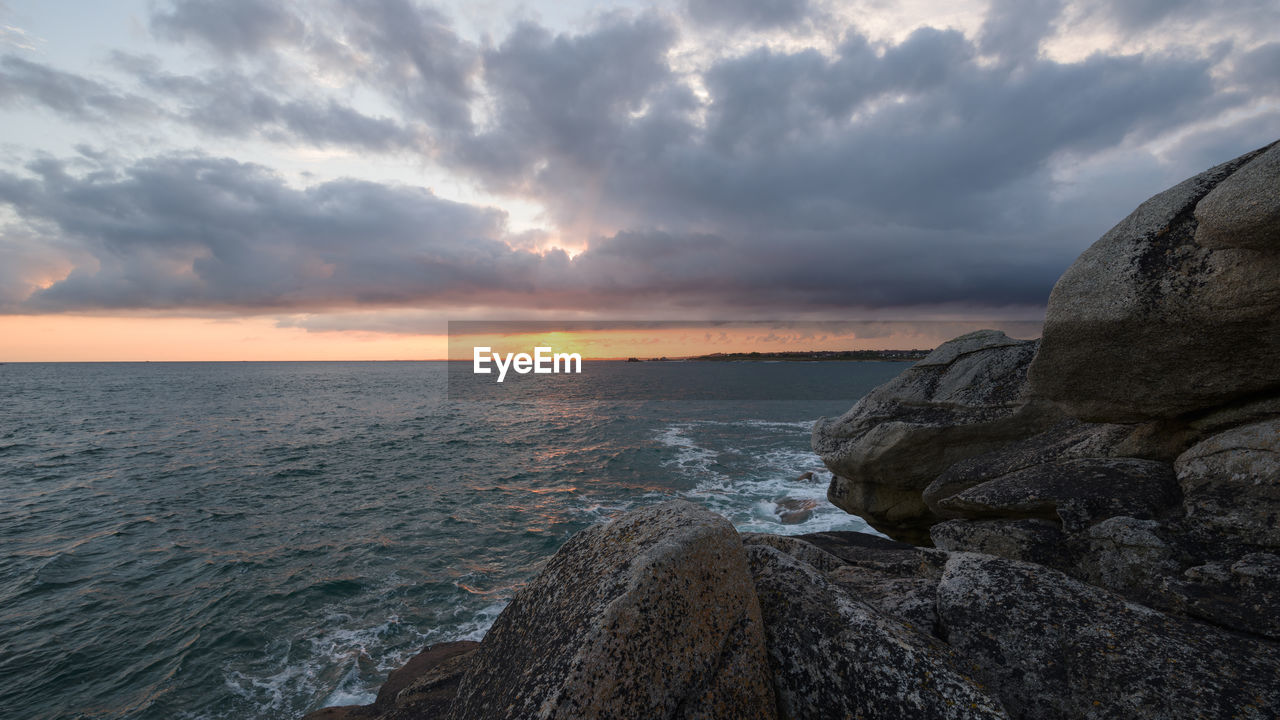
[[[660,324],[660,323],[659,323]],[[571,325],[571,324],[570,324]],[[1038,323],[1006,320],[867,323],[858,331],[788,323],[696,323],[648,329],[481,334],[316,332],[273,318],[0,316],[0,363],[471,360],[471,348],[536,346],[586,360],[689,357],[714,352],[928,350],[980,328],[1034,337]],[[836,324],[849,325],[849,323]]]

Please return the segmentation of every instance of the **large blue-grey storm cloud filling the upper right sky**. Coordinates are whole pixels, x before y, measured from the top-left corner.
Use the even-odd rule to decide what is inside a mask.
[[[618,65],[582,50],[602,38],[634,77],[605,82]],[[566,224],[590,213],[603,227],[762,242],[827,232],[851,238],[833,254],[859,252],[881,223],[1025,232],[1044,219],[1055,155],[1221,109],[1207,60],[992,65],[961,33],[932,28],[881,47],[850,32],[835,58],[762,49],[719,60],[698,108],[668,42],[643,22],[573,37],[517,31],[485,60],[486,76],[508,63],[522,73],[493,86],[503,102],[476,140],[493,154],[452,160],[535,195]]]

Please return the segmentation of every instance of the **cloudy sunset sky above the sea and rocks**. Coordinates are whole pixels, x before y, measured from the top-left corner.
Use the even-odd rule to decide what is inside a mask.
[[[1274,0],[4,0],[0,361],[1036,320],[1138,202],[1280,138],[1277,28]]]

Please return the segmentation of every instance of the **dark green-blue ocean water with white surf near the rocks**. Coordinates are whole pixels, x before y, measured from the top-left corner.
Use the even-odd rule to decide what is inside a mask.
[[[824,502],[809,428],[906,366],[596,363],[480,397],[445,365],[0,365],[5,716],[370,702],[425,644],[483,637],[571,534],[673,497],[867,530]],[[819,507],[782,524],[786,498]]]

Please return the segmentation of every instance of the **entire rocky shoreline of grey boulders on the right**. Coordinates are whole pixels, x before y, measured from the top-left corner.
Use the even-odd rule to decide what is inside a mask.
[[[1042,340],[947,342],[813,447],[895,539],[630,512],[307,717],[1280,716],[1280,143],[1121,220]]]

